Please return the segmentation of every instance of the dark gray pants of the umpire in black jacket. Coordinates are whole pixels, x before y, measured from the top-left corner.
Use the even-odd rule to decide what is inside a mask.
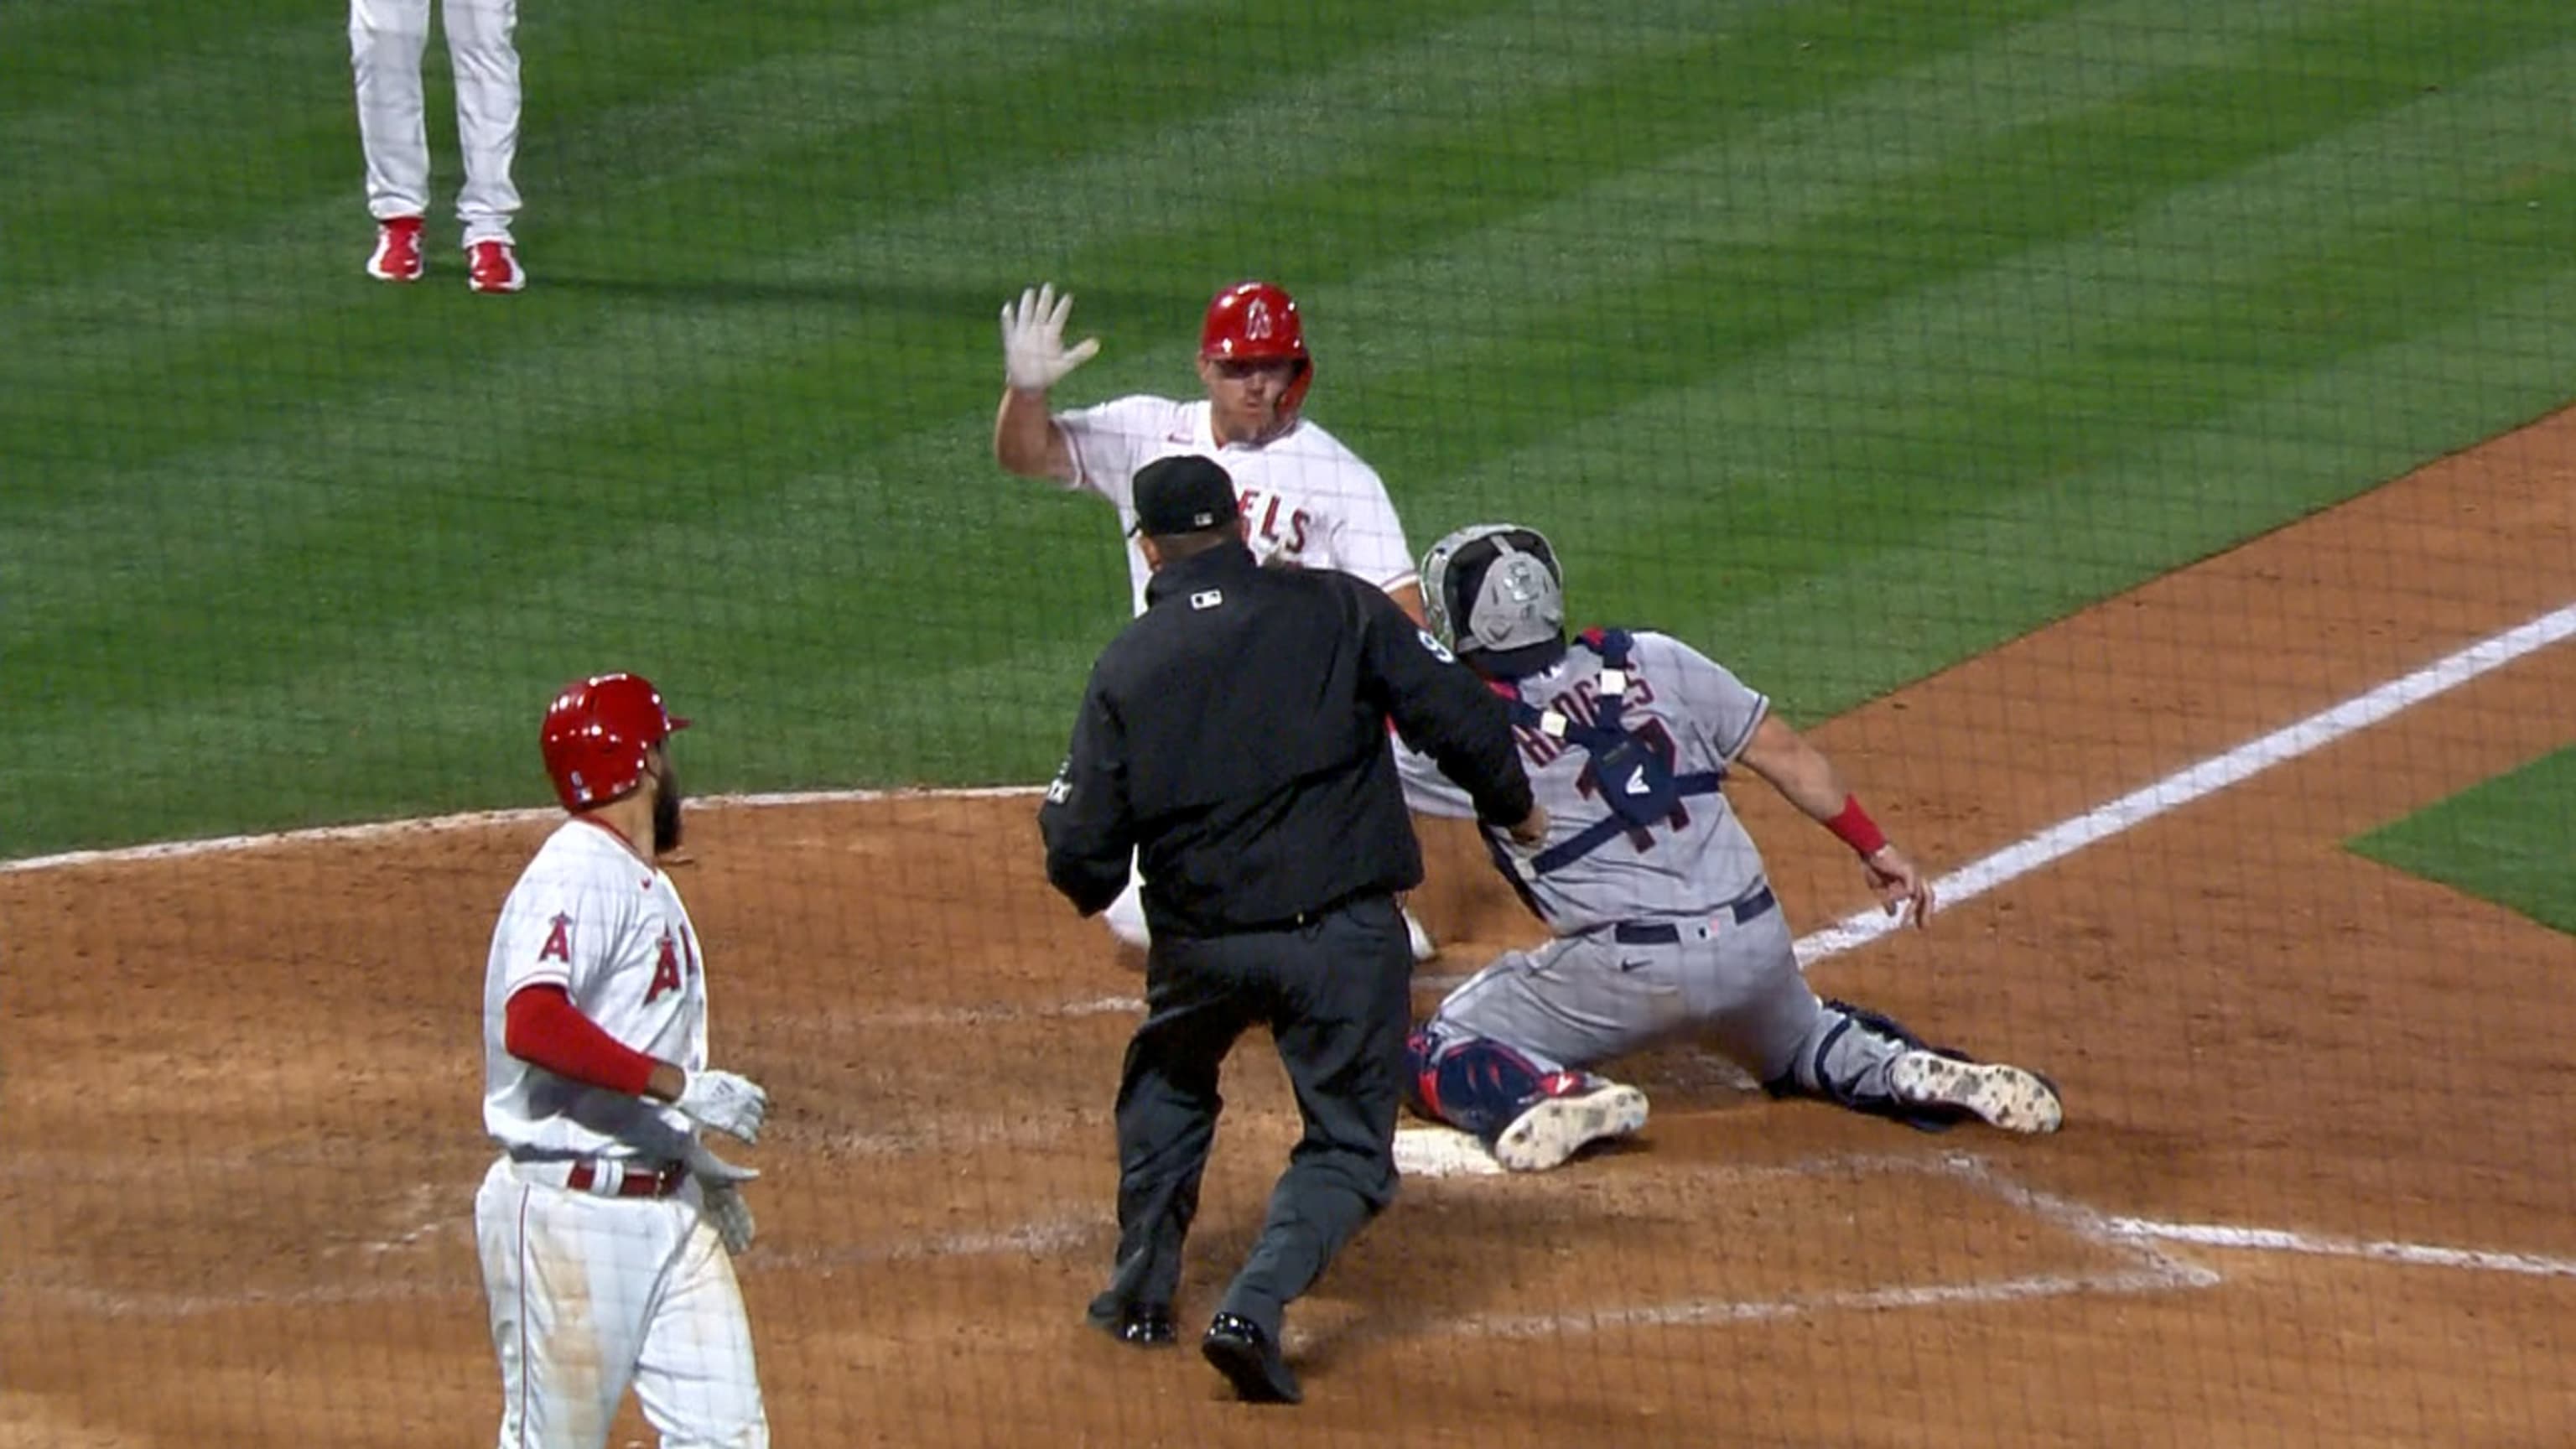
[[[1404,915],[1383,895],[1285,931],[1154,933],[1146,1016],[1118,1083],[1118,1269],[1095,1318],[1172,1305],[1224,1106],[1218,1067],[1267,1021],[1306,1134],[1221,1310],[1278,1338],[1285,1305],[1396,1196],[1412,969]]]

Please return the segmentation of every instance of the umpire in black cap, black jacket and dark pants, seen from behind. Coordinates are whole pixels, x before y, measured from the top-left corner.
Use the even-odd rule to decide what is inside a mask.
[[[1267,1021],[1306,1137],[1200,1348],[1244,1400],[1298,1403],[1280,1318],[1396,1196],[1412,1013],[1396,892],[1422,884],[1422,848],[1386,722],[1479,817],[1528,841],[1546,817],[1502,701],[1358,578],[1255,565],[1226,469],[1144,467],[1136,531],[1146,611],[1092,665],[1038,810],[1056,890],[1092,915],[1133,851],[1154,931],[1118,1080],[1118,1266],[1090,1320],[1172,1343],[1218,1065]]]

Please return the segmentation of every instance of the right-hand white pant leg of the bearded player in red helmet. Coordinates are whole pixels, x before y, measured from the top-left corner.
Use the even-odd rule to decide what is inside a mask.
[[[742,1310],[734,1256],[696,1199],[677,1199],[696,1222],[680,1235],[677,1258],[644,1328],[636,1400],[662,1434],[662,1449],[768,1449],[770,1415],[760,1403],[752,1320]]]

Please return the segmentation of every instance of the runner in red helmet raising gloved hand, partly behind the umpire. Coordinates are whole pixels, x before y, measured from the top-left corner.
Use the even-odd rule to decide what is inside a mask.
[[[1005,387],[992,451],[1015,474],[1048,477],[1118,508],[1136,614],[1144,614],[1144,585],[1154,572],[1133,539],[1136,472],[1157,459],[1198,454],[1234,477],[1257,559],[1358,575],[1422,621],[1422,585],[1386,482],[1303,415],[1314,356],[1296,299],[1267,281],[1242,281],[1208,302],[1198,330],[1198,379],[1208,392],[1200,402],[1133,394],[1051,413],[1048,389],[1100,351],[1095,338],[1064,345],[1072,307],[1074,299],[1056,297],[1054,286],[1023,291],[1002,307]],[[1128,946],[1146,946],[1136,879],[1103,918]],[[1422,923],[1412,913],[1404,923],[1414,959],[1432,959]]]

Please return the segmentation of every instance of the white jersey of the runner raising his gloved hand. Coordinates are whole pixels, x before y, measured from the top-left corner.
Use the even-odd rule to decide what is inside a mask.
[[[1074,454],[1074,482],[1118,505],[1118,531],[1136,526],[1136,472],[1157,459],[1198,454],[1234,477],[1252,552],[1265,565],[1342,570],[1378,588],[1414,583],[1414,552],[1378,469],[1324,428],[1298,420],[1267,443],[1218,443],[1211,405],[1121,397],[1056,413]],[[1136,614],[1154,572],[1136,539],[1126,541]]]

